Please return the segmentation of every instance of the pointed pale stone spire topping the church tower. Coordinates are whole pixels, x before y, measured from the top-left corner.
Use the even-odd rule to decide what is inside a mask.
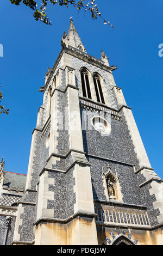
[[[68,45],[77,48],[80,51],[86,52],[85,47],[78,35],[77,29],[74,26],[73,20],[70,20],[70,27],[67,34]]]

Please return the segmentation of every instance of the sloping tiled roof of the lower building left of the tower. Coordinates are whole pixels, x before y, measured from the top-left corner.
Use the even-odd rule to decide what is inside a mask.
[[[26,186],[26,174],[11,173],[4,171],[3,186],[25,188]]]

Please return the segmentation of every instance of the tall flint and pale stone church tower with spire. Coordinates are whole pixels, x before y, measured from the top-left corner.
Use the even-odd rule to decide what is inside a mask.
[[[32,133],[14,245],[163,244],[163,185],[102,51],[91,56],[73,21]]]

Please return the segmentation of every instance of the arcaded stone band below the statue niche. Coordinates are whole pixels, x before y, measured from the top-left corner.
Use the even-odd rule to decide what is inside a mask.
[[[116,224],[119,226],[150,227],[149,218],[145,209],[136,206],[122,206],[112,203],[95,203],[97,214],[96,223]]]

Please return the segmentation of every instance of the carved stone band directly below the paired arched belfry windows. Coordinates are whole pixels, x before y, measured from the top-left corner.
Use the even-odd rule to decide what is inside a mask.
[[[87,101],[87,100],[82,100],[82,99],[80,99],[79,102],[80,102],[80,106],[82,106],[85,109],[88,109],[88,110],[91,110],[91,111],[98,111],[98,112],[104,111],[106,115],[108,114],[112,118],[122,121],[122,118],[120,117],[120,114],[116,111],[113,111],[109,107],[108,108],[103,107],[103,106],[98,105],[96,103],[93,103],[93,102],[90,102],[90,101]]]

